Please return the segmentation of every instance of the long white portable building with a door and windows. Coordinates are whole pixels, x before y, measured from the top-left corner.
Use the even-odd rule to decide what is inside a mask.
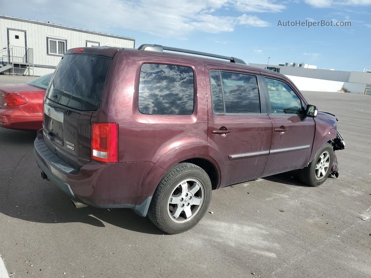
[[[135,39],[0,16],[0,73],[52,73],[67,49],[86,46],[134,48]]]

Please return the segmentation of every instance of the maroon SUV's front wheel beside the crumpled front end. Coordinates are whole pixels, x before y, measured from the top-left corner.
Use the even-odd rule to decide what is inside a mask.
[[[299,170],[299,179],[309,186],[319,186],[326,181],[331,173],[334,161],[334,150],[325,143],[316,153],[311,163]]]

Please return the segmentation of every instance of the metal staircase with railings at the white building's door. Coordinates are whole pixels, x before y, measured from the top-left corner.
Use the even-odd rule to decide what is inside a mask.
[[[0,50],[0,73],[8,72],[13,75],[28,75],[32,69],[34,76],[33,48],[22,46],[9,46]],[[23,70],[23,72],[22,72]]]

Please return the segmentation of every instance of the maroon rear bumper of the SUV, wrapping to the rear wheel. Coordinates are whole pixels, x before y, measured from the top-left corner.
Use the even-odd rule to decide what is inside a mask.
[[[68,196],[98,208],[131,208],[146,216],[165,170],[152,162],[100,163],[73,168],[45,146],[42,130],[34,143],[37,165]]]

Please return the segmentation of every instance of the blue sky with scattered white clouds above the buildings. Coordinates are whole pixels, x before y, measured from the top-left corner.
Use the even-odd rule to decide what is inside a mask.
[[[371,0],[0,0],[2,12],[50,23],[239,57],[371,69]],[[278,20],[351,21],[351,27],[277,27]]]

